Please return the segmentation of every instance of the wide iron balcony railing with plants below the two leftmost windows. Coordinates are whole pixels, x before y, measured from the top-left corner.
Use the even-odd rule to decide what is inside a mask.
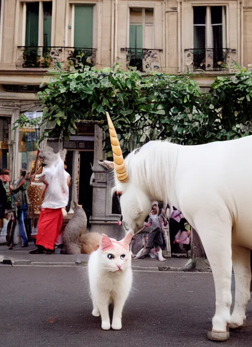
[[[17,69],[50,69],[61,67],[64,70],[80,66],[94,66],[96,49],[73,47],[21,47],[18,46]]]

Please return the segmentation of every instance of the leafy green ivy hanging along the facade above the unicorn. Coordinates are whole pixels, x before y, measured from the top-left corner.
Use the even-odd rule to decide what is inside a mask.
[[[55,72],[39,97],[44,104],[44,137],[69,137],[75,122],[98,121],[111,147],[105,111],[118,132],[124,153],[155,139],[181,144],[201,144],[236,139],[252,133],[252,72],[217,77],[209,93],[200,93],[189,75],[136,70],[84,68],[80,72]],[[27,119],[18,120],[22,125]],[[41,140],[40,139],[40,140]]]

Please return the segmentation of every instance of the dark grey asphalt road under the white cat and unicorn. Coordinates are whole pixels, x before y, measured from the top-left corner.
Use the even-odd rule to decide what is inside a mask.
[[[87,268],[0,266],[0,347],[252,346],[246,327],[228,342],[207,340],[214,314],[212,274],[135,271],[121,331],[93,317]]]

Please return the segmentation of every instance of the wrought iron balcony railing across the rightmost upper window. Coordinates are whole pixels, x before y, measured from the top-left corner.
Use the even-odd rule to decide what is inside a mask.
[[[236,60],[236,50],[229,48],[185,49],[185,65],[191,71],[230,70]]]

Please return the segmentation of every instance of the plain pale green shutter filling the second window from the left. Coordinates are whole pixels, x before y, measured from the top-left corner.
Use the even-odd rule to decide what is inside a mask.
[[[74,47],[93,48],[94,6],[74,6]]]

